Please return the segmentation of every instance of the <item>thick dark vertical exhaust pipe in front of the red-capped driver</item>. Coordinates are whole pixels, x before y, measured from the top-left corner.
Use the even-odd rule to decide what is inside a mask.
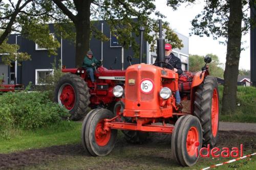
[[[159,39],[157,40],[157,56],[159,61],[164,61],[165,51],[164,51],[164,39],[162,34],[162,19],[159,19]],[[163,63],[160,62],[160,67],[163,67]]]

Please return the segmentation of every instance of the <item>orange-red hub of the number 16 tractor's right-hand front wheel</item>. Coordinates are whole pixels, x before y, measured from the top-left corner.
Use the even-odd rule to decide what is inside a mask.
[[[191,127],[187,133],[186,148],[189,156],[197,153],[199,135],[196,127]]]

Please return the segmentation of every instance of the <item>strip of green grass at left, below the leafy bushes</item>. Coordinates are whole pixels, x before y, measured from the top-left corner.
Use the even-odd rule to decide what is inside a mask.
[[[11,153],[33,148],[45,148],[80,142],[81,123],[62,121],[45,129],[18,130],[9,140],[0,139],[0,153]]]

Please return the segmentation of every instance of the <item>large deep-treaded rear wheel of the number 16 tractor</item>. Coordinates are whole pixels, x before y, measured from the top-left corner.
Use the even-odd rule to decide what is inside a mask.
[[[195,92],[194,115],[203,129],[203,146],[215,147],[219,131],[219,89],[215,77],[206,76]]]

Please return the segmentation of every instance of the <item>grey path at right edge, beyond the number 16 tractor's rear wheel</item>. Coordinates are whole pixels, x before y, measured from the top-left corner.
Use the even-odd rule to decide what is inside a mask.
[[[247,131],[256,132],[256,124],[220,122],[219,130],[222,131]]]

